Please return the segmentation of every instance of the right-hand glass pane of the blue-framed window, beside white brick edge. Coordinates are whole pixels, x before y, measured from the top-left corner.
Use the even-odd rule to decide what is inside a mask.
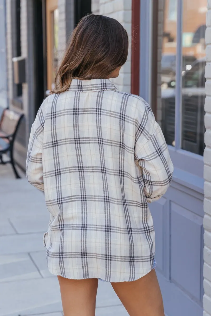
[[[195,60],[186,63],[182,73],[182,149],[203,155],[205,102],[205,30],[206,12],[201,7],[206,0],[195,0],[194,5],[183,1],[183,55]]]

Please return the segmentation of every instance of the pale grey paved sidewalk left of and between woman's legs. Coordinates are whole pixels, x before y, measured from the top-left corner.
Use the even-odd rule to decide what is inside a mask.
[[[47,270],[44,195],[0,165],[0,316],[62,316],[57,277]],[[126,316],[110,283],[99,282],[96,316]]]

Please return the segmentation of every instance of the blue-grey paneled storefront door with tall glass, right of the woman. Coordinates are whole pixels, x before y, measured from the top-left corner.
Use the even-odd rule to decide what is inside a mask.
[[[167,193],[150,205],[157,274],[166,316],[202,316],[207,0],[159,1],[157,119],[175,170]]]

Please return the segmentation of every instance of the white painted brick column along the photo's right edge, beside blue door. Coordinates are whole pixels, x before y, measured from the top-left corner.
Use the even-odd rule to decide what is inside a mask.
[[[207,12],[207,66],[205,76],[205,144],[204,151],[204,316],[211,315],[211,0],[208,0]]]

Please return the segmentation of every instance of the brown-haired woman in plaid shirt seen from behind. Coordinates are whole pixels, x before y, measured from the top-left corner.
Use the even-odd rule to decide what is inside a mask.
[[[26,173],[45,192],[43,242],[65,316],[95,315],[98,279],[129,315],[164,316],[147,203],[165,193],[173,166],[148,104],[109,80],[127,53],[119,22],[86,15],[31,130]]]

